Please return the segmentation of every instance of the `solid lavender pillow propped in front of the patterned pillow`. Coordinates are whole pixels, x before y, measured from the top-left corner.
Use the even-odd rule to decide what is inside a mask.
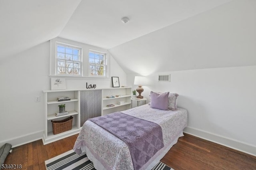
[[[168,110],[168,95],[169,92],[166,93],[155,93],[153,91],[150,92],[150,105],[152,108],[161,109],[161,110]]]

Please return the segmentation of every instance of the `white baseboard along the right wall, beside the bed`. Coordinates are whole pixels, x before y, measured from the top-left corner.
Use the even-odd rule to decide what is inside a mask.
[[[244,142],[238,141],[238,140],[234,140],[231,138],[227,138],[225,136],[221,136],[218,134],[214,134],[214,133],[210,133],[210,132],[206,132],[204,130],[200,130],[197,128],[192,128],[192,127],[186,127],[183,130],[184,133],[187,134],[191,134],[193,136],[205,139],[205,140],[209,140],[211,142],[217,143],[217,144],[221,144],[223,146],[235,149],[235,150],[239,150],[241,152],[256,156],[256,146],[250,145],[250,144],[246,144]]]

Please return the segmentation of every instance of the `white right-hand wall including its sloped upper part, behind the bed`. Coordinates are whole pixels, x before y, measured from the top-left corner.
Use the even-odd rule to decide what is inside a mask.
[[[185,132],[256,155],[256,1],[233,0],[110,49],[150,90],[179,93]],[[132,62],[130,62],[132,61]],[[171,83],[158,83],[159,73]],[[154,75],[154,77],[152,77]]]

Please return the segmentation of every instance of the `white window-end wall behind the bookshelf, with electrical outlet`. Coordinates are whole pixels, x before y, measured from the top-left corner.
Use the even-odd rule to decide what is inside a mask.
[[[0,146],[42,138],[42,91],[50,90],[49,55],[50,43],[45,42],[0,63]],[[111,56],[110,67],[110,76],[119,77],[120,85],[126,85],[126,74]],[[66,78],[66,89],[85,89],[86,82],[96,84],[96,88],[112,87],[110,78]],[[36,96],[41,96],[41,102],[35,102]]]

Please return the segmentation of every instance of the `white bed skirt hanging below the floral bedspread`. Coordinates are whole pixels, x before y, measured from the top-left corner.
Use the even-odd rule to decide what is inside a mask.
[[[164,146],[164,148],[160,149],[156,154],[146,163],[140,170],[151,170],[163,157],[164,155],[172,148],[174,144],[178,142],[178,138],[184,136],[183,131],[180,132],[180,134],[168,145]],[[96,170],[106,170],[106,168],[100,163],[99,160],[97,160],[93,154],[90,152],[90,150],[84,146],[82,150],[85,150],[86,155],[90,159],[90,161],[93,162],[94,168]]]

